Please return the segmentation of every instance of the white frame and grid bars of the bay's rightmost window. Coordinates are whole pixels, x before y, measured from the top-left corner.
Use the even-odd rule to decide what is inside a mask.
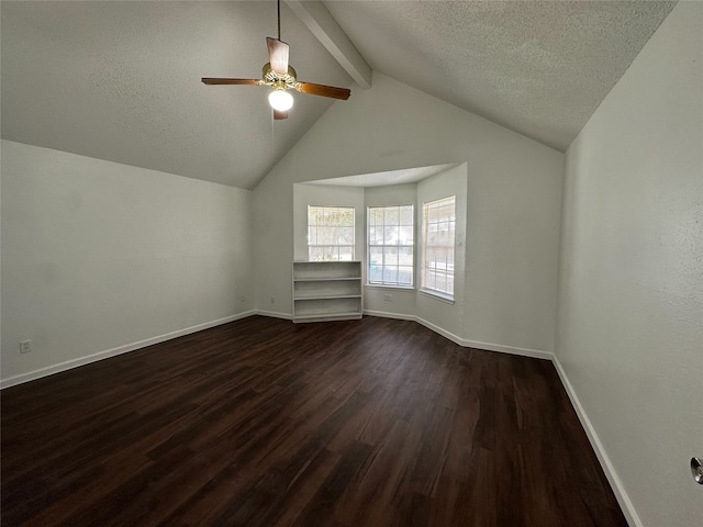
[[[429,208],[434,206],[435,209],[440,209],[443,206],[449,205],[453,206],[453,212],[448,216],[439,216],[447,217],[448,220],[437,220],[435,222],[428,222],[429,220]],[[454,302],[454,292],[455,292],[455,265],[456,265],[456,217],[457,217],[457,203],[456,203],[456,194],[447,195],[445,198],[440,198],[438,200],[432,200],[423,202],[422,205],[422,234],[421,234],[421,261],[420,261],[420,291],[433,296],[437,296],[443,300],[447,300]],[[429,225],[436,225],[438,228],[439,224],[447,224],[448,231],[450,232],[450,236],[447,235],[447,239],[450,238],[451,244],[439,244],[435,243],[433,245],[428,245],[428,238],[431,231]],[[442,237],[440,232],[437,233],[438,237]],[[431,249],[431,250],[429,250]],[[429,254],[436,254],[436,250],[445,251],[444,255],[444,269],[437,267],[437,260],[434,260],[434,266],[428,268],[429,264]],[[449,262],[449,253],[451,255],[451,261]],[[438,272],[439,271],[439,272]],[[428,273],[434,274],[434,287],[427,283]],[[436,287],[437,284],[437,276],[444,276],[445,284],[448,284],[449,281],[451,283],[451,291],[447,291],[448,287],[444,289],[439,289]]]

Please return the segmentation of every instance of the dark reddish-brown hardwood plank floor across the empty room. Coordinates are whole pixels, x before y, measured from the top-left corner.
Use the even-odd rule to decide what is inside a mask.
[[[3,390],[2,526],[626,527],[549,361],[253,316]]]

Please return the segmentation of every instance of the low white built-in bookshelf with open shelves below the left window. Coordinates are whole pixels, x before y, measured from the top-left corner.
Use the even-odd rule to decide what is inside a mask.
[[[361,318],[360,261],[294,261],[293,322]]]

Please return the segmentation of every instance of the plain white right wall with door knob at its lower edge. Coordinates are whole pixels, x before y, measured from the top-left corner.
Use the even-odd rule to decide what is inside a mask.
[[[633,526],[703,518],[702,35],[679,2],[567,153],[556,352]]]

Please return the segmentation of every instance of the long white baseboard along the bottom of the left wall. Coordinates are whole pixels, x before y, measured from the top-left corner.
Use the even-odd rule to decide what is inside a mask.
[[[64,362],[47,366],[45,368],[40,368],[37,370],[33,370],[27,373],[20,373],[19,375],[9,377],[7,379],[0,379],[0,390],[14,386],[16,384],[22,384],[24,382],[34,381],[35,379],[41,379],[42,377],[48,377],[54,373],[59,373],[62,371],[71,370],[74,368],[78,368],[79,366],[97,362],[99,360],[108,359],[110,357],[115,357],[118,355],[126,354],[129,351],[134,351],[136,349],[145,348],[146,346],[164,343],[172,338],[182,337],[183,335],[190,335],[191,333],[202,332],[203,329],[209,329],[211,327],[220,326],[228,322],[246,318],[247,316],[252,316],[254,314],[256,314],[254,310],[245,311],[243,313],[237,313],[236,315],[226,316],[224,318],[219,318],[216,321],[205,322],[202,324],[198,324],[196,326],[187,327],[185,329],[178,329],[176,332],[166,333],[164,335],[146,338],[144,340],[126,344],[124,346],[107,349],[104,351],[98,351],[97,354],[87,355],[85,357],[79,357],[77,359],[66,360]]]

